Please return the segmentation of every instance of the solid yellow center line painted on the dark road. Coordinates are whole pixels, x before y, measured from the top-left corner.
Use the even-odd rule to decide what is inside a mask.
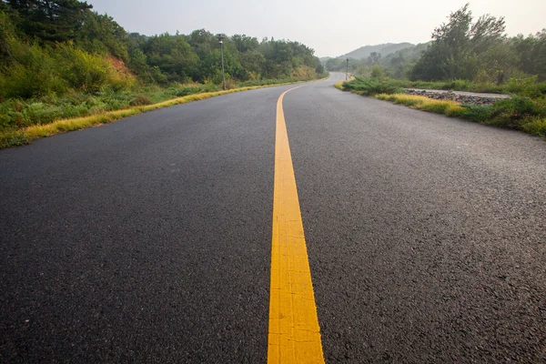
[[[282,109],[277,102],[268,363],[324,363],[319,319],[299,210],[296,177]]]

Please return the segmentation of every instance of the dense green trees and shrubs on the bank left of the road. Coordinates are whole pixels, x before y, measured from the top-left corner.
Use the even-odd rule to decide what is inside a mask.
[[[314,78],[324,72],[314,51],[298,42],[205,29],[147,36],[127,33],[85,1],[0,0],[0,97],[219,83],[218,36],[228,80]]]

